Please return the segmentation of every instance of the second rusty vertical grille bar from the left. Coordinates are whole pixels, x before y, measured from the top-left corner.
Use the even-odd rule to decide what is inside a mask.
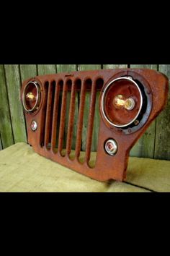
[[[55,88],[55,98],[54,98],[54,107],[53,107],[53,126],[52,126],[52,135],[51,135],[51,148],[53,153],[56,153],[56,140],[57,140],[57,124],[59,113],[59,100],[60,100],[60,91],[63,89],[63,80],[57,82]]]

